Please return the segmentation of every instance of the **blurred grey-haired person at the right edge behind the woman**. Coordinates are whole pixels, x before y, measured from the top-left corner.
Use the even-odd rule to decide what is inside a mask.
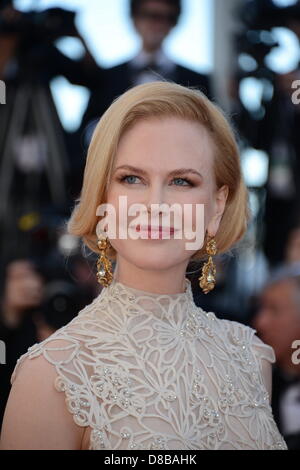
[[[300,364],[293,343],[300,339],[300,263],[278,268],[265,284],[252,326],[273,347],[272,409],[290,450],[300,450]]]

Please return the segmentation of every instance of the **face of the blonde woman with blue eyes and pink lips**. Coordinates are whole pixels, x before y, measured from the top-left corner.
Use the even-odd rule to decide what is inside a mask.
[[[122,136],[107,193],[107,203],[116,210],[117,237],[120,196],[126,196],[127,209],[138,203],[145,210],[135,215],[127,213],[128,220],[125,222],[126,227],[131,224],[135,234],[143,234],[144,238],[133,239],[129,234],[125,239],[110,238],[118,261],[121,257],[140,269],[152,270],[187,266],[190,257],[203,246],[205,232],[208,231],[211,236],[216,234],[225,208],[227,187],[216,190],[213,151],[204,127],[173,117],[139,121]],[[176,212],[176,218],[172,211],[170,219],[168,216],[162,218],[162,214],[166,215],[167,212],[163,210],[160,214],[158,204],[165,204],[165,208],[176,204],[177,209],[181,210]],[[197,204],[204,205],[202,220],[196,215]],[[201,239],[200,246],[193,250],[186,246],[195,238],[185,236],[184,205],[192,208],[190,229],[202,233],[202,238],[198,237]],[[148,224],[143,231],[141,224],[135,221],[142,213],[148,216],[147,209]],[[150,214],[154,217],[154,223]],[[122,215],[124,217],[124,210]],[[148,232],[147,225],[152,227],[152,231],[150,229]],[[182,233],[182,237],[177,239],[172,230],[162,236],[161,232],[153,230],[159,226],[175,230],[181,227],[182,231],[177,233]]]

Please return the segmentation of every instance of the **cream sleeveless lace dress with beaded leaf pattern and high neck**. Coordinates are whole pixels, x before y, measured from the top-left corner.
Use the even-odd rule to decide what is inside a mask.
[[[43,354],[90,449],[286,449],[262,374],[274,351],[255,333],[197,307],[188,279],[171,295],[113,280],[11,383]]]

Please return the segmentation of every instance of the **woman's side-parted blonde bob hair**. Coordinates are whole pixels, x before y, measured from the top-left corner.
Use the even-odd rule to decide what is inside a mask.
[[[97,207],[106,202],[107,188],[118,143],[123,134],[141,119],[177,117],[204,126],[214,145],[214,174],[217,188],[227,185],[225,210],[215,236],[218,254],[225,253],[247,230],[250,219],[248,191],[243,180],[238,145],[223,112],[202,92],[169,81],[156,81],[130,88],[117,97],[99,120],[88,149],[83,186],[68,222],[69,233],[82,238],[98,253]],[[108,255],[116,259],[110,247]],[[206,258],[205,243],[190,260]]]

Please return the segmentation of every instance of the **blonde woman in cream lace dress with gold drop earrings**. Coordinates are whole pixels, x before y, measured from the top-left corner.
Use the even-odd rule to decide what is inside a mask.
[[[124,223],[121,196],[159,225],[135,224],[130,211]],[[146,236],[99,231],[104,203],[117,228]],[[192,250],[186,232],[162,225],[174,204],[204,208],[200,222],[192,214],[203,235]],[[118,97],[94,131],[68,225],[99,253],[103,288],[19,358],[1,448],[286,449],[270,406],[273,349],[197,307],[186,278],[189,261],[204,260],[209,295],[214,254],[242,239],[249,215],[234,134],[201,92],[161,81]]]

